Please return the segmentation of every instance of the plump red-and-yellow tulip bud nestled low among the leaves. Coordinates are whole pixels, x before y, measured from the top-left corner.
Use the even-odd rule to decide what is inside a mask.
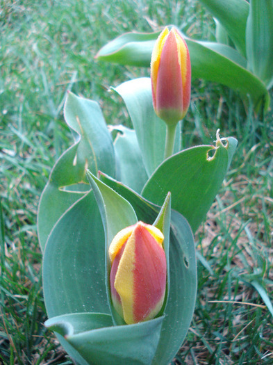
[[[109,247],[113,305],[127,324],[154,318],[166,289],[164,236],[152,225],[138,222],[122,229]]]

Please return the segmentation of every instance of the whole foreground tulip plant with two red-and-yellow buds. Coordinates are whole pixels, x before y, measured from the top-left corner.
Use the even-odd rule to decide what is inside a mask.
[[[106,126],[96,102],[67,95],[74,144],[53,166],[38,212],[45,325],[77,364],[167,365],[195,308],[193,233],[237,141],[217,131],[215,145],[181,150],[190,58],[176,29],[160,34],[151,79],[113,92],[134,129]]]

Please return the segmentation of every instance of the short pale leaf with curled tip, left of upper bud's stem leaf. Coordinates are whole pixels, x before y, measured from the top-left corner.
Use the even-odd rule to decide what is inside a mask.
[[[148,176],[135,131],[122,125],[113,129],[118,131],[114,147],[119,168],[119,181],[140,193]]]

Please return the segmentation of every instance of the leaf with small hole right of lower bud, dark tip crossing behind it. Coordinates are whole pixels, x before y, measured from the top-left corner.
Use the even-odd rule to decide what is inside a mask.
[[[101,179],[128,200],[138,220],[153,224],[159,207],[127,188],[113,178],[101,175]],[[195,309],[197,273],[195,243],[187,220],[172,211],[169,237],[169,298],[165,307],[166,318],[160,334],[158,350],[152,364],[166,365],[179,350],[190,327]]]

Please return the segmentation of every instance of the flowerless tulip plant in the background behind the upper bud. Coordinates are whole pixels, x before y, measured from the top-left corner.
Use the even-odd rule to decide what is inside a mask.
[[[199,0],[213,15],[215,42],[185,37],[192,78],[222,83],[250,96],[258,111],[270,104],[273,86],[273,0]],[[104,46],[97,58],[148,67],[155,33],[125,33]]]

